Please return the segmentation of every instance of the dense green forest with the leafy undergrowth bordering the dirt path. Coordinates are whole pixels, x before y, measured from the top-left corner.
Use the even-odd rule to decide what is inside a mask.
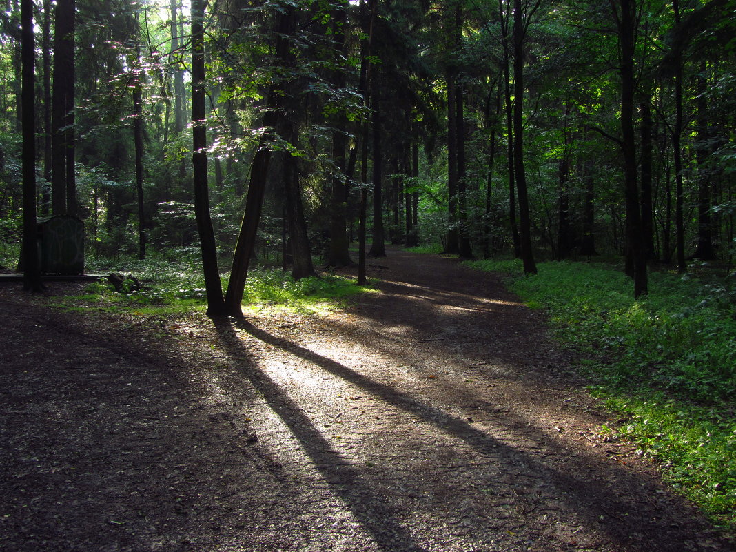
[[[604,431],[735,526],[736,0],[6,0],[28,290],[57,216],[213,319],[399,250],[511,274],[603,355]]]

